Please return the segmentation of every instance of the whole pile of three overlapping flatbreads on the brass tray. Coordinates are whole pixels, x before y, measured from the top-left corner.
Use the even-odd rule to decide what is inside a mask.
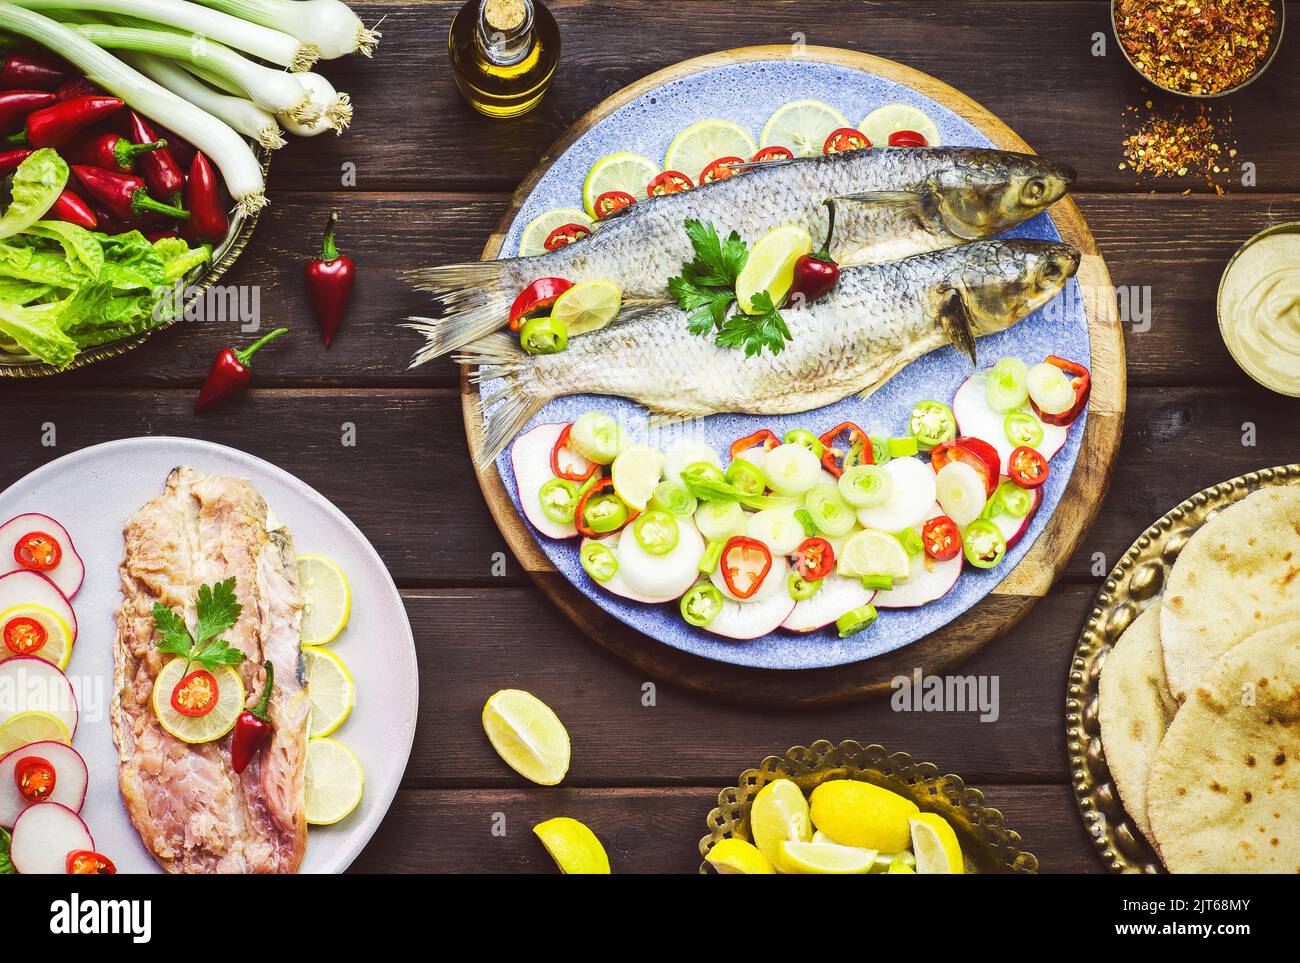
[[[1176,873],[1300,872],[1300,486],[1192,535],[1106,655],[1101,741]]]

